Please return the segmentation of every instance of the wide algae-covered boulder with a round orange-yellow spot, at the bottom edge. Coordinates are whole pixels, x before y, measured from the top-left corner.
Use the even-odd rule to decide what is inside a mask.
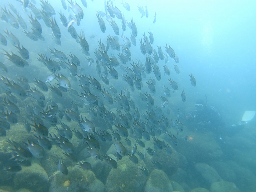
[[[49,192],[103,192],[104,184],[89,170],[79,167],[68,167],[68,175],[59,171],[52,173],[49,178],[51,184]]]

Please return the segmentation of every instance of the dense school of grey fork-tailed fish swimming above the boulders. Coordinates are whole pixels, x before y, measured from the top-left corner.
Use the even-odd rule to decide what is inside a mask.
[[[1,3],[0,22],[6,28],[0,30],[0,137],[12,150],[12,164],[3,163],[1,171],[16,173],[24,163],[43,159],[54,145],[63,150],[56,167],[66,175],[66,159],[91,169],[86,157],[78,158],[84,149],[87,157],[106,161],[113,169],[124,156],[134,164],[138,157],[143,160],[145,154],[137,145],[150,156],[158,150],[172,153],[169,145],[178,145],[183,131],[179,114],[170,112],[172,96],[179,93],[186,102],[186,85],[180,85],[170,73],[180,73],[174,47],[169,42],[157,44],[153,31],[136,26],[140,18],[125,18],[131,10],[128,3],[105,1],[105,10],[91,15],[98,19],[95,26],[100,36],[90,33],[95,26],[79,28],[89,19],[84,18],[89,9],[86,0],[58,3],[59,12],[47,0]],[[149,17],[147,6],[138,6],[138,10],[141,18]],[[152,15],[154,20],[148,22],[154,25],[156,13]],[[110,29],[112,33],[107,34]],[[67,33],[69,36],[63,36]],[[140,35],[143,38],[138,39]],[[97,45],[90,43],[94,38]],[[64,46],[67,41],[70,46]],[[40,50],[37,42],[44,42],[48,49]],[[140,53],[131,51],[139,45]],[[170,76],[169,82],[163,76]],[[195,87],[194,75],[189,77]],[[8,138],[8,131],[17,123],[30,135],[23,142]],[[81,141],[79,147],[71,142],[74,137]],[[145,141],[153,142],[154,148]],[[107,154],[105,146],[111,144],[116,159]],[[159,162],[152,164],[161,169]],[[141,171],[148,175],[147,167]]]

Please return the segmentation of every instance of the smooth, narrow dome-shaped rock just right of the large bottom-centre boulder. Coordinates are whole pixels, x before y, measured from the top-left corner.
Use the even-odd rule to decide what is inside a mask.
[[[147,180],[144,192],[172,192],[172,184],[164,171],[154,169]]]

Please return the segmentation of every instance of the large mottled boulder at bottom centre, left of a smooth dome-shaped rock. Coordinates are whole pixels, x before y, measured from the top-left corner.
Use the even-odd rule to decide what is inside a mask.
[[[139,159],[138,164],[132,163],[128,156],[117,161],[117,168],[111,169],[106,181],[106,192],[141,192],[147,178],[141,173],[140,168],[146,166]]]

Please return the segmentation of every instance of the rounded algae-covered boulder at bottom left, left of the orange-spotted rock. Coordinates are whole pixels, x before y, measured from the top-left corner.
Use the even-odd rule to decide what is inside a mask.
[[[41,165],[32,163],[31,166],[22,166],[21,171],[15,174],[14,185],[16,188],[45,192],[49,189],[48,175]]]

